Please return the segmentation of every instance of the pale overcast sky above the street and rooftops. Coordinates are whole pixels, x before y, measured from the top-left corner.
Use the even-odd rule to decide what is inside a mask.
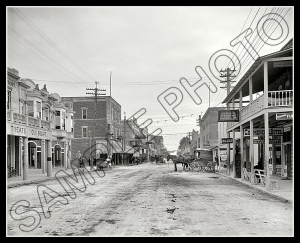
[[[293,6],[7,6],[6,64],[21,78],[30,78],[39,87],[46,84],[49,93],[60,97],[90,96],[86,88],[97,85],[105,89],[99,92],[111,93],[121,105],[122,118],[124,111],[128,118],[144,108],[138,123],[152,119],[149,132],[156,135],[160,128],[165,147],[174,150],[181,137],[199,130],[196,119],[208,106],[225,105],[221,102],[226,90],[216,71],[238,67],[234,73],[238,81],[253,63],[249,46],[240,44],[246,36],[241,33],[252,30],[247,38],[258,56],[275,52],[293,37],[293,10]],[[262,30],[269,39],[262,41]],[[236,58],[232,54],[231,62],[225,55],[214,59],[214,53],[229,53],[222,49]],[[207,86],[197,89],[201,102],[196,103],[179,80],[199,84],[199,67]],[[178,96],[166,97],[169,103],[178,101],[177,121],[157,99],[171,87],[182,94],[181,102]]]

